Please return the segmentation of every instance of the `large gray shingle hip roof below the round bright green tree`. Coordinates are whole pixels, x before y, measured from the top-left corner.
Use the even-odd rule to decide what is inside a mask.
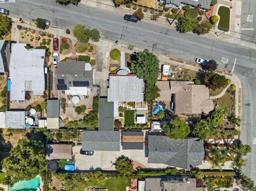
[[[202,164],[203,142],[192,139],[170,139],[166,136],[148,136],[148,163],[162,163],[189,169]]]

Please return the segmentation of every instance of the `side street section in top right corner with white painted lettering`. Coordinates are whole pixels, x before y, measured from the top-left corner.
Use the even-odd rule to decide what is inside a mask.
[[[255,0],[244,0],[241,15],[241,39],[256,43]]]

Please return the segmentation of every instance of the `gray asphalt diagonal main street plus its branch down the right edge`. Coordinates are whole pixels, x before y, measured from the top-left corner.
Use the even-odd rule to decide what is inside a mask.
[[[55,0],[17,0],[16,3],[3,3],[11,16],[25,19],[49,19],[55,26],[71,28],[75,23],[97,27],[103,38],[118,40],[120,44],[131,44],[138,48],[148,48],[159,54],[179,59],[195,61],[196,57],[214,59],[220,69],[230,71],[236,60],[234,73],[243,86],[243,130],[242,141],[252,146],[247,156],[244,172],[256,182],[256,146],[252,140],[256,137],[256,51],[251,48],[230,44],[217,39],[209,39],[193,34],[180,34],[175,29],[149,21],[131,23],[123,20],[123,15],[103,12],[87,6],[61,6]],[[255,141],[256,142],[256,141]]]

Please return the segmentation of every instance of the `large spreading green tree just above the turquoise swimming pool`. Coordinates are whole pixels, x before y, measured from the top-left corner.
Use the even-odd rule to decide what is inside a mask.
[[[6,170],[5,185],[13,186],[17,181],[29,180],[46,169],[45,149],[41,141],[24,137],[12,148],[10,154],[2,161]]]

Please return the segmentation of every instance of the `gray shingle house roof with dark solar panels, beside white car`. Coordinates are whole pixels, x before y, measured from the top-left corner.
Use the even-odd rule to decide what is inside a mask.
[[[67,89],[74,87],[73,81],[88,81],[89,86],[93,86],[93,69],[87,65],[90,63],[77,62],[76,60],[67,60],[66,62],[58,62],[55,71],[55,87],[58,89],[58,80],[63,79]]]

